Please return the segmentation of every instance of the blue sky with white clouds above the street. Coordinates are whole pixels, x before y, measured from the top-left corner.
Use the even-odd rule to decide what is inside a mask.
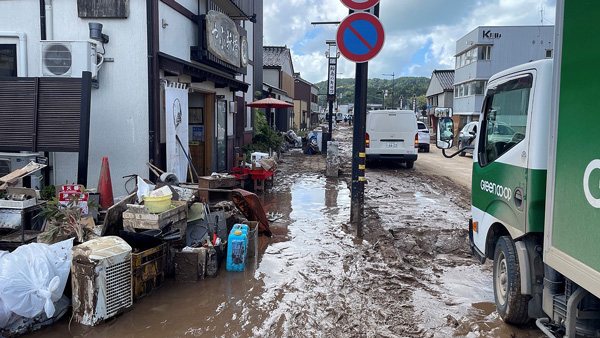
[[[360,0],[362,1],[362,0]],[[357,0],[357,2],[359,2]],[[454,69],[456,40],[477,26],[553,25],[555,0],[381,0],[385,30],[381,52],[369,61],[369,78],[431,77]],[[326,40],[335,40],[348,8],[340,0],[264,0],[264,45],[292,50],[294,71],[305,80],[327,80]],[[338,77],[354,77],[355,64],[343,56]]]

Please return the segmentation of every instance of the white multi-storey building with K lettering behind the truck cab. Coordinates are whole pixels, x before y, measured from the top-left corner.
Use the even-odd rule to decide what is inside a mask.
[[[455,125],[476,120],[487,80],[525,62],[552,57],[554,26],[480,26],[456,42]]]

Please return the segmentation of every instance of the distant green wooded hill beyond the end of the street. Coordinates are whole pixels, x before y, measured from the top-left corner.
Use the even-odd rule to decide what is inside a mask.
[[[327,81],[321,81],[315,83],[319,87],[319,93],[327,93]],[[392,86],[391,79],[369,79],[367,84],[367,103],[370,104],[381,104],[383,90],[388,91],[388,96],[385,98],[385,105],[388,107],[399,106],[400,96],[404,97],[403,104],[408,104],[413,97],[416,95],[419,97],[419,107],[426,105],[425,93],[429,86],[429,78],[427,77],[399,77],[394,79],[394,86]],[[395,88],[394,101],[396,104],[392,104],[392,88]],[[340,98],[341,95],[341,98]],[[337,97],[338,104],[349,104],[354,103],[354,79],[337,79]],[[325,106],[325,96],[319,95],[319,105]]]

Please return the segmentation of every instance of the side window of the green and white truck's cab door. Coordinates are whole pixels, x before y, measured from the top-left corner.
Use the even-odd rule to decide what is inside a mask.
[[[526,75],[488,91],[484,103],[484,133],[479,140],[479,164],[494,162],[521,142],[527,132],[527,112],[533,76]]]

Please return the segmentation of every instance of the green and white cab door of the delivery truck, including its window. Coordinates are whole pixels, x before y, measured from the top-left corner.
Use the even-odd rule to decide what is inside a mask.
[[[504,225],[513,238],[526,231],[529,133],[535,72],[488,84],[478,143],[473,151],[475,245],[485,252],[487,232]]]

